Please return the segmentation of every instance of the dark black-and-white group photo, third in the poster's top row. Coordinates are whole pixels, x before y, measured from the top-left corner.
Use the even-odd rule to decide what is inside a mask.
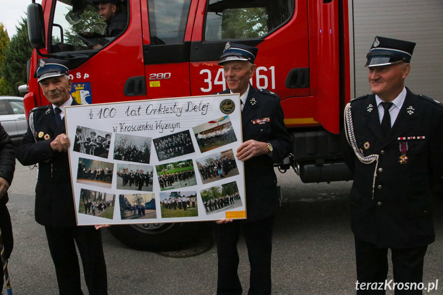
[[[176,158],[195,151],[189,130],[159,137],[153,139],[153,142],[159,161]]]

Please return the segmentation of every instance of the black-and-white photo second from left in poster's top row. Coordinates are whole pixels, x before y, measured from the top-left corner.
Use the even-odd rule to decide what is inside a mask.
[[[151,137],[115,133],[114,160],[149,164]]]

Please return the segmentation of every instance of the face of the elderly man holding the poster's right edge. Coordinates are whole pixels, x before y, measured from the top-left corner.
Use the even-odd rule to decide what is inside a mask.
[[[249,79],[254,76],[256,65],[247,61],[230,61],[223,63],[223,75],[227,87],[233,93],[242,95],[246,92]]]

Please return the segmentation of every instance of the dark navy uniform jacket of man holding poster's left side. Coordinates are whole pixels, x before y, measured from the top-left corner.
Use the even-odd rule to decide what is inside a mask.
[[[78,103],[73,100],[72,105]],[[16,157],[26,166],[38,163],[35,220],[52,227],[76,226],[68,153],[50,147],[57,135],[66,133],[65,122],[57,128],[52,105],[37,107],[31,113],[34,130],[28,124]]]

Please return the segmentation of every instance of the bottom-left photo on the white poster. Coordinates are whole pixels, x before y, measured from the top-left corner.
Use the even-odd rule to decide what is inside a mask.
[[[112,219],[114,215],[115,194],[89,190],[80,190],[79,213]]]

